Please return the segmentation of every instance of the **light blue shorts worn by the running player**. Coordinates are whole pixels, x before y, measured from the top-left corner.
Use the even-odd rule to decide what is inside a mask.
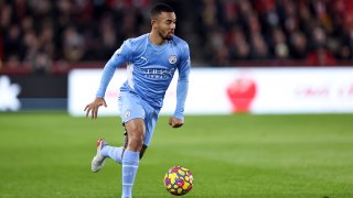
[[[145,120],[146,134],[143,144],[149,146],[153,136],[159,110],[153,109],[138,95],[129,91],[120,92],[118,107],[122,123],[137,118]]]

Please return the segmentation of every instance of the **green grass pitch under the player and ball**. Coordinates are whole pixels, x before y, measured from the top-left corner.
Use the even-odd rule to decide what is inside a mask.
[[[0,113],[0,197],[120,197],[119,165],[90,173],[98,138],[120,145],[120,120]],[[353,114],[189,116],[182,129],[161,117],[133,197],[173,197],[162,180],[174,165],[194,175],[190,198],[351,198]]]

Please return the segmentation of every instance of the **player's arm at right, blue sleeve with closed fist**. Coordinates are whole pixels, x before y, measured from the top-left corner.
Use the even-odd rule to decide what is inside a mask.
[[[179,79],[176,85],[176,108],[173,117],[169,119],[169,124],[173,128],[182,127],[184,123],[184,107],[189,90],[189,74],[190,74],[190,52],[186,45],[183,50],[182,62],[178,68]]]

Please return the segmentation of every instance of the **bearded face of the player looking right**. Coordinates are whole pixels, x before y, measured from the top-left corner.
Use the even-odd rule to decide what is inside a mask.
[[[174,12],[162,12],[157,19],[157,31],[162,40],[171,40],[175,31],[176,16]]]

